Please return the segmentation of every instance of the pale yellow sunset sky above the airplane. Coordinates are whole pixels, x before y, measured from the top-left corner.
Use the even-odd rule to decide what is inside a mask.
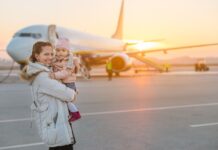
[[[121,0],[0,3],[0,49],[5,49],[17,30],[33,24],[56,24],[110,37],[116,29]],[[164,39],[166,47],[218,42],[218,0],[125,0],[124,7],[124,39]],[[185,53],[218,56],[218,47]]]

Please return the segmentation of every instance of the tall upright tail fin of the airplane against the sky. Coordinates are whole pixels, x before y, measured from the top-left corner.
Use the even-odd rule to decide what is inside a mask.
[[[122,0],[120,7],[120,15],[117,22],[117,29],[115,33],[112,35],[112,38],[122,39],[123,38],[123,9],[124,9],[124,0]]]

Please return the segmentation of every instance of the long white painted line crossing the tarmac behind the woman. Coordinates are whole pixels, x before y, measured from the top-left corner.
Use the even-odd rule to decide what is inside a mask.
[[[204,104],[192,104],[192,105],[138,108],[138,109],[114,110],[114,111],[103,111],[103,112],[90,112],[90,113],[82,113],[81,115],[82,116],[93,116],[93,115],[104,115],[104,114],[118,114],[118,113],[156,111],[156,110],[171,110],[171,109],[206,107],[206,106],[217,106],[217,105],[218,105],[218,103],[204,103]],[[31,118],[0,120],[0,123],[10,123],[10,122],[29,121],[29,120],[31,120]]]

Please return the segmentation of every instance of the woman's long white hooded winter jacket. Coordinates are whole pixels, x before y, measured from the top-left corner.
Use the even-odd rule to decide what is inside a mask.
[[[49,147],[74,143],[66,103],[75,98],[74,90],[49,78],[49,69],[39,63],[29,63],[26,73],[38,74],[31,84],[31,109],[42,141]]]

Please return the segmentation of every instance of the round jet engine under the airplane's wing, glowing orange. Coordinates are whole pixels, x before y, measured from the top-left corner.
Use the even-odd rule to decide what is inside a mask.
[[[113,55],[109,61],[112,63],[113,72],[126,71],[132,66],[132,59],[125,53],[117,53]]]

